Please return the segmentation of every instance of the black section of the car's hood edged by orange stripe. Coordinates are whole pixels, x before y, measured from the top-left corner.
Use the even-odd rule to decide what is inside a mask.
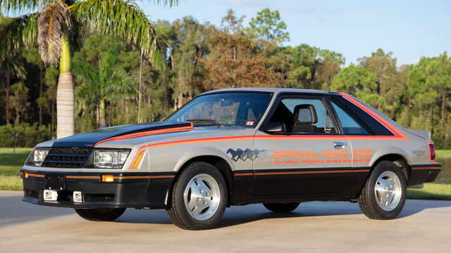
[[[93,147],[99,141],[125,134],[135,134],[142,131],[152,131],[160,129],[171,129],[174,127],[191,126],[190,122],[153,122],[141,124],[128,124],[123,126],[111,126],[103,129],[88,131],[83,134],[75,134],[66,138],[58,139],[53,147]]]

